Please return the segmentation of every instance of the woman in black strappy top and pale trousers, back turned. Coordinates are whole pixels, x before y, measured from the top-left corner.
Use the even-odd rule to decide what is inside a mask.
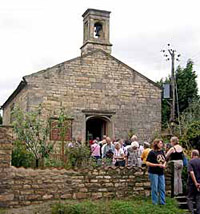
[[[170,139],[172,147],[166,154],[166,159],[174,163],[174,195],[183,193],[182,170],[183,170],[183,148],[179,145],[177,137]]]

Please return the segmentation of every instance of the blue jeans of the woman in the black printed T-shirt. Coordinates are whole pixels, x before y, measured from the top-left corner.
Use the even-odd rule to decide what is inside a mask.
[[[149,173],[151,182],[151,199],[153,204],[165,204],[165,176]],[[160,200],[158,200],[160,198]]]

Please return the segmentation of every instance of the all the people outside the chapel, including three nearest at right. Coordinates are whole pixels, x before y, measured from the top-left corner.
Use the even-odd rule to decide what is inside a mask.
[[[165,202],[165,176],[164,169],[167,162],[173,162],[174,195],[183,194],[182,170],[188,166],[188,208],[194,213],[193,202],[196,200],[196,209],[200,214],[200,158],[199,151],[192,150],[189,163],[184,155],[183,148],[177,137],[172,137],[170,143],[164,144],[162,140],[155,139],[150,145],[148,142],[138,143],[133,135],[130,143],[123,139],[111,141],[107,136],[103,140],[95,139],[90,142],[91,156],[99,160],[110,160],[115,166],[147,166],[151,183],[151,198],[153,204],[164,205]]]

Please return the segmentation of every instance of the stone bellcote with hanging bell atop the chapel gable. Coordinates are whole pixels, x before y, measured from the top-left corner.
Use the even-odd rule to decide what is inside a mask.
[[[81,54],[101,49],[111,54],[110,12],[105,10],[87,9],[83,17],[83,46]]]

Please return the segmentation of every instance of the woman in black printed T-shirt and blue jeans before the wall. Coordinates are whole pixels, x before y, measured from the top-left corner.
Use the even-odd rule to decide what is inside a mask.
[[[165,204],[165,177],[164,168],[166,166],[165,155],[162,150],[163,142],[155,139],[153,149],[149,152],[146,165],[149,167],[149,179],[151,182],[151,199],[153,204]],[[160,200],[158,200],[158,196]]]

